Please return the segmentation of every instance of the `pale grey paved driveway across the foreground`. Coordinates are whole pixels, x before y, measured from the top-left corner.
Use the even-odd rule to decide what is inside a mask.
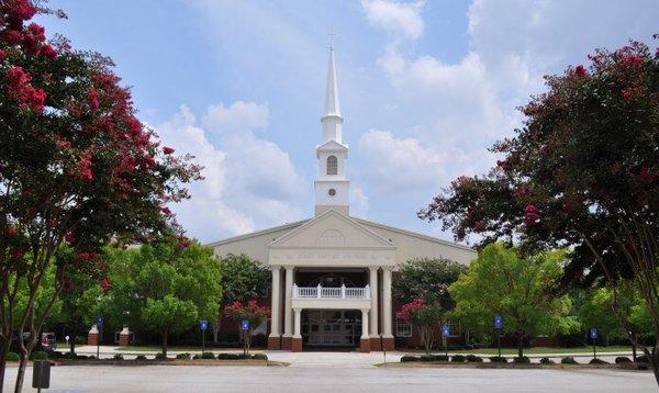
[[[328,367],[54,367],[53,392],[651,392],[650,372]],[[15,379],[9,368],[5,390]],[[32,370],[27,370],[30,386]],[[25,389],[25,391],[31,391]]]

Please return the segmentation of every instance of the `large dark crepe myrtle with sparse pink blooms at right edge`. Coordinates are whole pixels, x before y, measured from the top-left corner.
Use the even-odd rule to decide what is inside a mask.
[[[589,58],[546,78],[547,91],[522,108],[522,128],[493,146],[495,168],[458,178],[420,217],[458,239],[567,247],[565,283],[604,278],[615,291],[633,278],[652,319],[656,341],[643,349],[659,382],[659,53],[630,42]],[[635,340],[615,301],[613,312]]]

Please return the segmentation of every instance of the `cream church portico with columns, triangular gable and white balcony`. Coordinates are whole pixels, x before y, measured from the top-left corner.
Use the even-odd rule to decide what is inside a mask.
[[[353,310],[361,313],[361,351],[380,349],[380,343],[393,349],[395,246],[388,239],[330,209],[272,242],[268,260],[273,283],[269,348],[302,350],[301,314],[305,310]],[[339,324],[335,328],[342,329]]]

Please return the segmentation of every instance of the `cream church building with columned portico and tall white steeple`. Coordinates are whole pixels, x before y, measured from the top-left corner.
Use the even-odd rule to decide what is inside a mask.
[[[270,349],[392,350],[394,337],[412,335],[395,318],[396,267],[424,257],[468,265],[477,256],[467,246],[351,216],[343,123],[330,48],[314,217],[209,245],[220,257],[245,254],[271,269]]]

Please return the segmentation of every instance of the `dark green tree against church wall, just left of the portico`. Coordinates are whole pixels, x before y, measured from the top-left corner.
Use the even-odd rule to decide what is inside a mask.
[[[269,270],[248,256],[230,254],[220,261],[222,269],[222,304],[213,324],[213,340],[217,341],[217,332],[222,322],[224,305],[234,302],[247,302],[250,299],[264,299],[270,291]]]

